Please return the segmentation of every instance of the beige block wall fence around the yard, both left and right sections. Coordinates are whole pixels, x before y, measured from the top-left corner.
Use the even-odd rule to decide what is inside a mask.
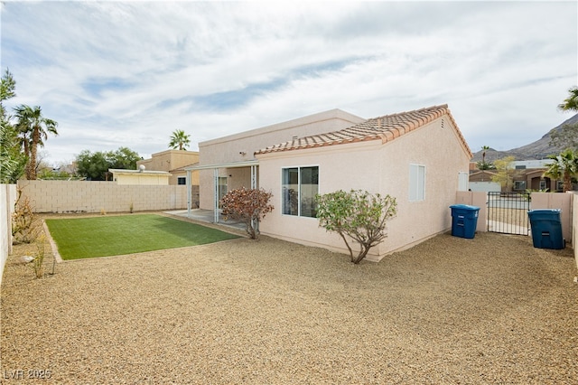
[[[192,207],[199,202],[199,186],[192,186]],[[0,184],[0,285],[5,262],[12,249],[11,217],[17,189],[22,189],[36,212],[123,212],[183,210],[187,208],[186,185],[118,185],[111,182],[21,181]],[[533,209],[563,210],[564,238],[573,243],[578,236],[578,199],[574,193],[533,193]],[[458,192],[456,203],[471,204],[485,212],[484,192]],[[448,209],[449,210],[449,209]],[[449,212],[449,211],[448,211]],[[477,230],[487,231],[484,212],[480,212]],[[570,246],[570,245],[568,245]],[[578,267],[578,248],[573,248]]]

